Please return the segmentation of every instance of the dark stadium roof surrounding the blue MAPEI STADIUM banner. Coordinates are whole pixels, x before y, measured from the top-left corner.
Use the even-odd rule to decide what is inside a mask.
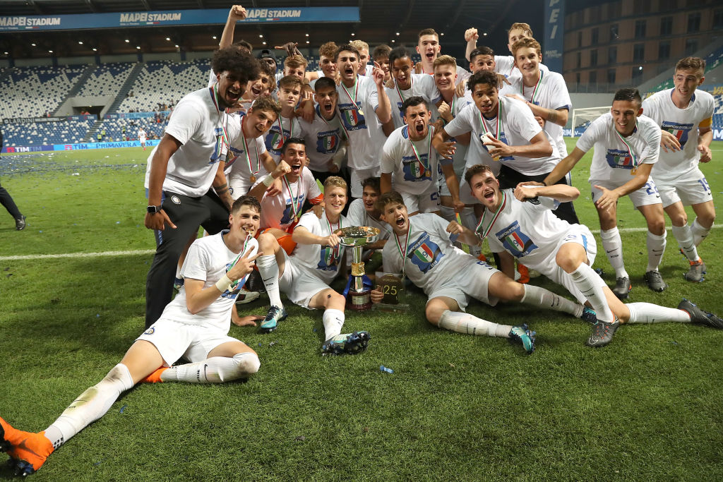
[[[299,47],[318,47],[334,40],[346,43],[353,38],[375,45],[416,44],[416,34],[432,27],[440,38],[443,52],[463,51],[463,32],[477,27],[487,32],[480,44],[505,53],[505,30],[512,22],[528,22],[542,33],[542,3],[525,0],[281,0],[241,2],[244,7],[359,7],[361,22],[319,25],[254,24],[236,27],[236,39],[249,40],[254,48],[267,48],[294,40]],[[100,14],[183,9],[229,9],[231,1],[218,0],[3,0],[0,15]],[[186,27],[122,27],[106,30],[20,31],[0,33],[3,52],[15,59],[48,56],[117,55],[124,53],[163,53],[210,51],[218,46],[226,15],[215,25]],[[354,36],[351,34],[354,33]],[[308,34],[308,36],[307,36]],[[167,40],[169,39],[169,40]],[[127,41],[128,40],[128,41]],[[309,44],[307,45],[307,40]],[[392,40],[395,40],[393,43]],[[266,41],[266,45],[262,42]],[[82,42],[82,43],[81,43]],[[35,43],[35,46],[31,44]],[[179,46],[176,48],[176,46]],[[140,48],[137,48],[140,47]],[[93,51],[93,48],[96,50]],[[49,51],[53,51],[50,53]],[[450,52],[452,53],[452,52]]]

